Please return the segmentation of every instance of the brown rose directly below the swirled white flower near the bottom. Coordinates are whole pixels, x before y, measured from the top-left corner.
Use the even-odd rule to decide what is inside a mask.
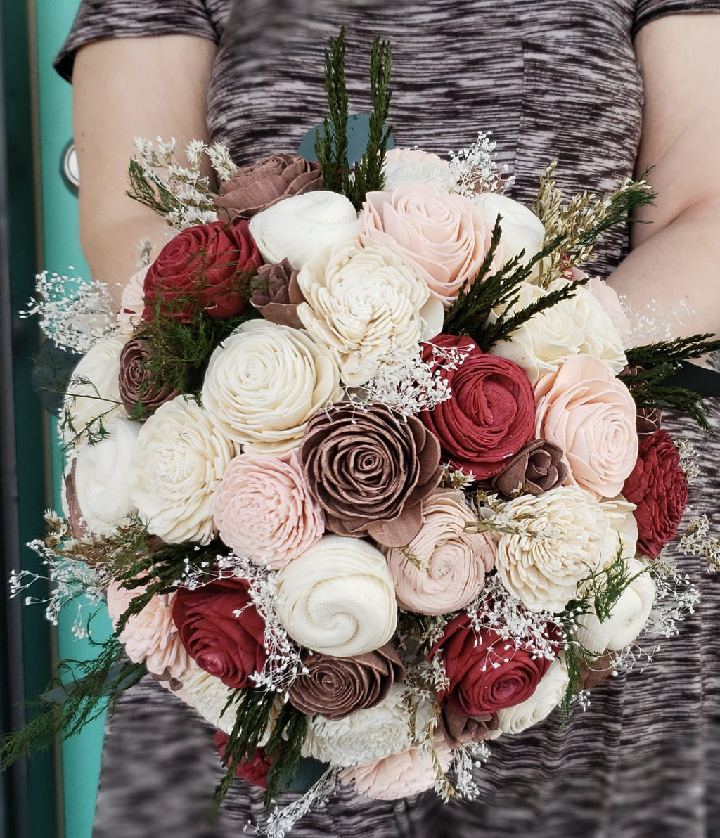
[[[307,716],[319,713],[334,720],[380,704],[393,683],[405,676],[391,644],[349,658],[306,651],[303,664],[308,672],[293,681],[290,703]]]

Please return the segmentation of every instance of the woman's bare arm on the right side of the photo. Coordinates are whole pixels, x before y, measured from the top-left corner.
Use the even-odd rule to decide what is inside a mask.
[[[637,173],[654,207],[633,225],[632,252],[611,279],[640,315],[674,334],[720,334],[720,15],[660,18],[635,50],[645,80]],[[689,316],[673,312],[681,303]],[[662,313],[666,314],[663,318]]]

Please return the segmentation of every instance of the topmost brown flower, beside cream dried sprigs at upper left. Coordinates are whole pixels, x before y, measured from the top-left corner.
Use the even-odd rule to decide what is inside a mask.
[[[227,210],[231,220],[251,218],[290,195],[323,188],[320,164],[293,154],[272,154],[252,166],[239,168],[220,184],[215,204]]]

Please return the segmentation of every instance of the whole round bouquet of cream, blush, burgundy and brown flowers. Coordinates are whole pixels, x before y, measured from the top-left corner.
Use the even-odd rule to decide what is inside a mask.
[[[324,763],[277,835],[337,784],[472,797],[488,742],[586,704],[697,598],[661,555],[692,458],[659,406],[704,422],[666,380],[717,344],[635,345],[580,270],[647,185],[566,201],[551,166],[527,208],[487,137],[448,161],[388,151],[380,42],[350,166],[343,59],[341,35],[317,161],[236,168],[198,142],[183,166],[138,142],[132,195],[174,237],[117,318],[97,283],[49,302],[57,277],[36,307],[85,353],[65,517],[35,545],[49,616],[84,593],[116,629],[47,717],[73,732],[150,673],[218,728],[218,799],[239,774],[269,801]],[[717,554],[706,535],[686,550]]]

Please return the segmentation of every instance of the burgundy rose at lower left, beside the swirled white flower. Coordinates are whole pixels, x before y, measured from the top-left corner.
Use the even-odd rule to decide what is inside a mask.
[[[180,587],[173,621],[190,657],[226,686],[242,690],[265,665],[265,623],[252,603],[249,582],[231,577],[191,590]]]

